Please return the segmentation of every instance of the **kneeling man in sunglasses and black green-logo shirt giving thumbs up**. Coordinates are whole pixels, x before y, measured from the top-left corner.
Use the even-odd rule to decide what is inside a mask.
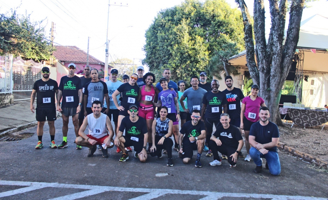
[[[195,167],[202,167],[200,157],[203,152],[204,140],[206,136],[205,125],[204,122],[200,121],[199,110],[193,110],[191,118],[192,121],[184,123],[180,130],[179,153],[182,154],[183,163],[188,164],[190,159],[193,157],[193,150],[198,150]]]

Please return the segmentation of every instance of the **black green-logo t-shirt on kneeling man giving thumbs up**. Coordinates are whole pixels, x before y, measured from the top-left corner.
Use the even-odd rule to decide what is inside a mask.
[[[195,126],[192,124],[192,121],[184,123],[180,130],[180,133],[184,135],[183,143],[190,142],[190,135],[193,137],[200,136],[202,130],[205,130],[205,124],[203,121],[199,120]]]

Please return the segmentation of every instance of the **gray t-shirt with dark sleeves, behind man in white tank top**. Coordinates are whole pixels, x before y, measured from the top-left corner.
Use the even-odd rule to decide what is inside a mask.
[[[105,94],[108,94],[107,85],[104,81],[89,82],[84,87],[84,95],[88,95],[87,107],[91,108],[92,102],[98,100],[104,107]]]

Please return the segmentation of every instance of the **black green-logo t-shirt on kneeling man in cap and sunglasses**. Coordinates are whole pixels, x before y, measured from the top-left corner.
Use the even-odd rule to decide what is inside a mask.
[[[142,117],[139,117],[136,122],[131,122],[130,116],[124,117],[119,131],[124,132],[124,129],[125,137],[136,142],[143,142],[144,134],[148,133],[146,120]]]

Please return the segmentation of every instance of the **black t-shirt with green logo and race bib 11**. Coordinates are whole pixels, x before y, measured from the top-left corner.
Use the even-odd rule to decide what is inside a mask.
[[[225,93],[219,91],[213,93],[206,92],[203,97],[203,104],[206,105],[205,118],[220,118],[222,114],[222,106],[227,104]]]

